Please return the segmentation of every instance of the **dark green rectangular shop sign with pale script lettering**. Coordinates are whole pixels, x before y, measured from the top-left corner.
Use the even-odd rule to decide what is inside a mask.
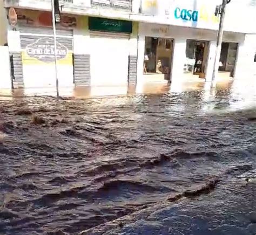
[[[89,30],[131,33],[132,22],[126,20],[89,17]]]

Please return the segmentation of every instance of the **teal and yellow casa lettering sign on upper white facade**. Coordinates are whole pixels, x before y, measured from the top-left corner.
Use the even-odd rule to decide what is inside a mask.
[[[191,22],[203,21],[203,22],[218,23],[219,18],[215,16],[213,12],[209,13],[206,10],[205,6],[201,6],[199,11],[177,7],[174,10],[174,17],[176,19],[182,19],[184,21],[191,21]]]

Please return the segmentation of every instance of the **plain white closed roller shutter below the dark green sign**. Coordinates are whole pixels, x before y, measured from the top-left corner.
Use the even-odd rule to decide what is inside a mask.
[[[129,33],[90,31],[92,86],[127,84]]]

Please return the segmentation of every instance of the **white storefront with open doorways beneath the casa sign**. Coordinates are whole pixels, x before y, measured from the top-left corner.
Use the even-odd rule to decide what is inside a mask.
[[[192,75],[192,78],[202,78],[210,81],[212,79],[217,44],[216,39],[217,31],[215,30],[139,23],[138,84],[147,82],[148,73],[157,73],[159,71],[161,73],[162,71],[169,73],[171,82],[183,81],[188,78],[187,75],[189,74]],[[228,71],[235,72],[236,69],[236,50],[233,45],[239,45],[244,40],[245,34],[243,33],[224,32],[224,42],[229,42],[230,45],[226,66]],[[167,44],[166,41],[168,42]],[[147,50],[149,45],[150,50]],[[160,66],[157,64],[159,57],[155,56],[159,45],[164,45],[163,52],[166,53],[166,56],[163,56],[164,59],[162,59],[166,62],[160,60]],[[169,50],[168,53],[166,45]],[[153,59],[150,60],[148,53],[153,54]],[[156,64],[153,62],[155,59]],[[150,66],[149,61],[150,63],[152,62]],[[165,66],[170,67],[170,71],[163,70]]]

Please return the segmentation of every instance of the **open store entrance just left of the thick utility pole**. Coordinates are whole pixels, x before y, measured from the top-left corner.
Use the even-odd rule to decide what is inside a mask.
[[[208,42],[188,39],[184,73],[205,78],[207,58]]]

